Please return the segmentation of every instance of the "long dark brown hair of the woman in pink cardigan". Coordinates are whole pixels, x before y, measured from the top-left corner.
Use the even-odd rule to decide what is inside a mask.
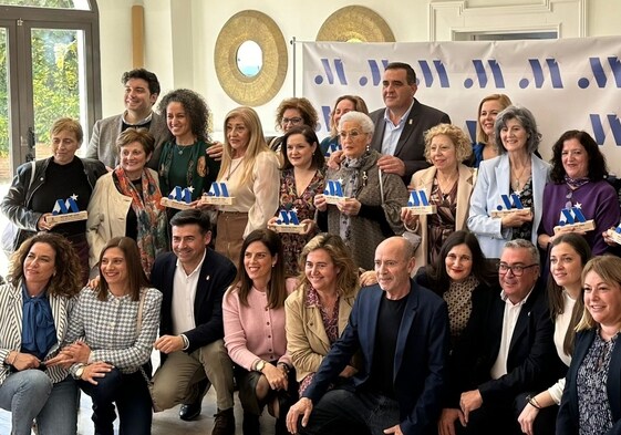
[[[252,280],[248,277],[246,268],[244,267],[244,257],[246,256],[246,249],[255,241],[263,244],[271,256],[277,258],[276,265],[271,269],[267,297],[268,308],[279,309],[284,305],[284,300],[288,294],[284,286],[286,275],[284,261],[282,258],[282,242],[280,241],[280,237],[271,229],[256,229],[244,239],[239,262],[237,265],[237,276],[235,277],[231,288],[235,289],[237,287],[239,301],[242,305],[248,307],[248,293],[250,289],[252,289]]]

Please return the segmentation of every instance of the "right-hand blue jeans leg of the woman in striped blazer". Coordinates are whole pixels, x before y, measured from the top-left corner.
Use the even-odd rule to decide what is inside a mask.
[[[77,384],[71,376],[52,386],[48,402],[37,416],[39,435],[75,435],[77,432]]]

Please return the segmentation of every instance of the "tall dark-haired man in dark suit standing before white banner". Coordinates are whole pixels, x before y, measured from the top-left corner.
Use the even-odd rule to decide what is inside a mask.
[[[384,156],[380,169],[397,174],[410,184],[412,174],[428,167],[425,160],[424,133],[451,118],[437,108],[421,104],[414,97],[417,91],[416,73],[407,63],[389,63],[382,80],[384,108],[370,114],[375,124],[371,147]]]

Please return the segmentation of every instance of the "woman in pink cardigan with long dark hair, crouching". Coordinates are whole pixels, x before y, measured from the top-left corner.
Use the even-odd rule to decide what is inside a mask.
[[[268,404],[276,434],[287,434],[284,416],[298,385],[287,353],[284,300],[296,280],[284,278],[282,244],[269,229],[250,232],[241,246],[237,277],[225,293],[225,345],[236,364],[244,435],[259,434]]]

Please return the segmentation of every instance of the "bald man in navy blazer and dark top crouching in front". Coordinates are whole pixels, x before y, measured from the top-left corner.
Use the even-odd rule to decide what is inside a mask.
[[[377,246],[377,284],[360,291],[343,334],[291,407],[291,433],[414,435],[435,429],[448,314],[438,296],[410,278],[414,263],[404,238]],[[349,382],[339,380],[359,350],[362,369]],[[331,383],[340,386],[328,391]]]

